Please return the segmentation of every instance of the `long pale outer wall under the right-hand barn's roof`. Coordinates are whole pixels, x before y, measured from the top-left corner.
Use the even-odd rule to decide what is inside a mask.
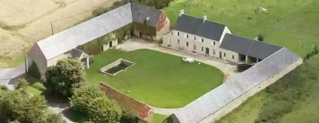
[[[272,83],[276,82],[280,78],[282,78],[287,73],[291,72],[293,69],[295,69],[297,66],[302,64],[302,58],[299,58],[297,61],[292,63],[291,65],[288,65],[286,68],[284,68],[282,71],[276,73],[272,77],[266,79],[261,84],[255,86],[248,92],[241,95],[239,98],[233,100],[223,108],[219,109],[217,112],[213,113],[212,115],[208,116],[204,120],[200,121],[199,123],[213,123],[216,120],[219,120],[220,118],[224,117],[226,114],[232,112],[235,108],[240,106],[243,102],[245,102],[249,97],[253,96],[257,92],[260,92],[267,86],[271,85]]]

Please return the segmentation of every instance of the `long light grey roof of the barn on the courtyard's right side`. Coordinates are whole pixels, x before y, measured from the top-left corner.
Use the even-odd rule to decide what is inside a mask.
[[[299,58],[300,56],[282,48],[248,70],[180,108],[173,113],[172,117],[176,116],[181,123],[197,123]]]

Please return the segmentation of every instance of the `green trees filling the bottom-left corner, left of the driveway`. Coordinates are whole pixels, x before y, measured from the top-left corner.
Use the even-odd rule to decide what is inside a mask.
[[[0,115],[8,122],[15,123],[65,123],[61,116],[48,117],[51,115],[48,115],[48,107],[43,96],[29,97],[19,90],[2,92]]]

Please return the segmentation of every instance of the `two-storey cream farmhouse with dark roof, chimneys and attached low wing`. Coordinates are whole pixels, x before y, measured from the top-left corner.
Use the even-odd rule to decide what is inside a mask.
[[[282,48],[234,35],[225,24],[207,21],[207,16],[201,19],[184,15],[184,10],[179,11],[174,29],[164,35],[162,46],[247,64],[257,63]]]

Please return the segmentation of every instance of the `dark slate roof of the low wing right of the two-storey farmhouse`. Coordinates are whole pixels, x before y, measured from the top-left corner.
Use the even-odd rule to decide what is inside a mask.
[[[265,59],[283,47],[226,33],[219,48]]]

